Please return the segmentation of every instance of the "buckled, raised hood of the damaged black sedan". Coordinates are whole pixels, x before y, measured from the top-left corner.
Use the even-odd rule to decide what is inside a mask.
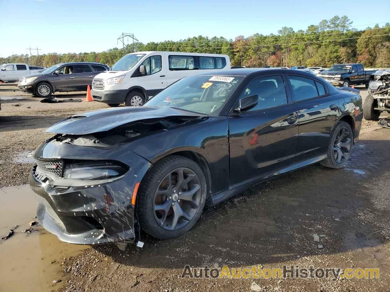
[[[46,133],[86,135],[112,130],[135,121],[167,117],[199,117],[199,113],[191,113],[174,107],[118,107],[115,109],[98,109],[87,113],[76,114],[48,128]]]

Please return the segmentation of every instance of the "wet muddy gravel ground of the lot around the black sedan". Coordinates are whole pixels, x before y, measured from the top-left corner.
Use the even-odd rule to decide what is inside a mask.
[[[362,97],[367,91],[362,90]],[[206,208],[193,229],[161,241],[141,234],[144,248],[60,243],[34,220],[27,183],[30,153],[44,128],[71,114],[107,107],[97,102],[42,104],[0,85],[0,291],[388,291],[390,281],[390,130],[363,121],[360,141],[344,169],[313,165],[255,186]],[[59,95],[57,95],[59,97]],[[64,95],[63,98],[85,95]],[[20,104],[20,106],[15,106]],[[27,162],[27,163],[26,163]],[[11,185],[11,186],[9,186]],[[17,187],[14,187],[17,186]],[[37,230],[37,231],[34,231]],[[324,235],[319,242],[313,234]],[[318,248],[322,245],[323,248]],[[78,255],[79,254],[79,255]],[[55,261],[55,262],[53,262]],[[50,264],[51,262],[51,264]],[[380,278],[181,279],[193,267],[379,268]],[[53,281],[61,280],[58,283]]]

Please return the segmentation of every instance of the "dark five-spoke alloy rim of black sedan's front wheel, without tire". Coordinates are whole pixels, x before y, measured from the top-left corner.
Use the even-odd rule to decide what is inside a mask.
[[[200,179],[189,168],[170,171],[154,194],[153,213],[165,230],[178,230],[194,218],[202,198]]]

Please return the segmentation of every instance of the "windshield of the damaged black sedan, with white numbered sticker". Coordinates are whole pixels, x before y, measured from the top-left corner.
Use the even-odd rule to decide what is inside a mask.
[[[243,76],[202,75],[183,78],[144,106],[170,106],[202,114],[218,114]]]

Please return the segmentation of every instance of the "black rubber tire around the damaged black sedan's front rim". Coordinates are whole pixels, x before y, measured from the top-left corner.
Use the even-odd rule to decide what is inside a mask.
[[[191,219],[190,220],[181,219],[180,222],[182,225],[183,224],[184,225],[180,227],[179,224],[175,224],[175,227],[176,226],[180,227],[177,229],[173,227],[173,223],[172,223],[173,229],[167,230],[163,227],[168,226],[168,224],[165,224],[166,222],[168,222],[168,218],[172,219],[173,218],[172,216],[176,217],[176,213],[175,213],[176,209],[174,209],[174,207],[177,208],[177,206],[179,206],[179,209],[181,211],[184,211],[184,208],[183,209],[181,208],[182,206],[184,207],[187,206],[184,205],[184,202],[186,202],[185,204],[190,204],[190,201],[187,201],[188,198],[183,199],[183,197],[179,195],[177,195],[176,199],[174,199],[174,195],[176,192],[172,193],[172,197],[168,197],[169,194],[164,195],[165,199],[161,200],[160,204],[157,205],[155,204],[158,190],[160,190],[160,186],[163,184],[165,178],[167,178],[168,176],[170,177],[168,183],[169,185],[167,187],[168,191],[161,191],[161,192],[170,192],[171,189],[174,190],[174,188],[176,187],[174,186],[174,188],[172,188],[174,182],[176,184],[177,181],[179,181],[179,179],[175,181],[174,179],[171,178],[171,174],[174,173],[176,169],[188,169],[193,174],[196,174],[196,178],[199,179],[198,180],[199,184],[192,185],[191,188],[195,188],[195,186],[196,188],[200,187],[200,192],[198,189],[198,191],[194,193],[194,195],[196,195],[195,199],[193,199],[194,195],[191,196],[192,201],[198,200],[197,204],[195,205],[195,208],[190,210],[192,211]],[[189,190],[190,182],[186,182],[188,178],[189,176],[183,179],[180,185],[183,185],[184,182],[184,185],[186,185]],[[204,176],[204,173],[202,169],[199,167],[199,165],[196,164],[193,160],[179,155],[170,155],[168,157],[161,159],[145,174],[145,177],[142,179],[140,188],[138,190],[136,208],[137,208],[137,215],[138,215],[138,220],[140,222],[141,229],[147,232],[148,234],[150,234],[151,236],[160,239],[171,239],[187,232],[193,227],[193,225],[195,225],[195,223],[198,221],[200,217],[200,214],[202,213],[204,203],[206,202],[206,194],[207,194],[206,189],[207,189],[207,185],[206,185],[206,178]],[[181,190],[180,188],[179,194],[182,194],[180,191],[182,191],[183,193],[186,192]],[[180,198],[182,198],[181,200],[182,202],[180,202]],[[167,209],[168,211],[166,211],[166,213],[164,212],[165,217],[163,215],[159,215],[161,214],[158,213],[159,211],[154,211],[155,209],[157,209],[156,208],[157,206],[163,206],[163,205],[166,205],[168,207]],[[161,221],[158,222],[157,215],[163,217],[163,222]],[[187,213],[186,215],[188,216]],[[183,216],[178,216],[178,218],[182,218],[182,217]],[[174,219],[172,219],[172,222],[173,220]],[[179,219],[177,219],[176,222],[178,223]]]

